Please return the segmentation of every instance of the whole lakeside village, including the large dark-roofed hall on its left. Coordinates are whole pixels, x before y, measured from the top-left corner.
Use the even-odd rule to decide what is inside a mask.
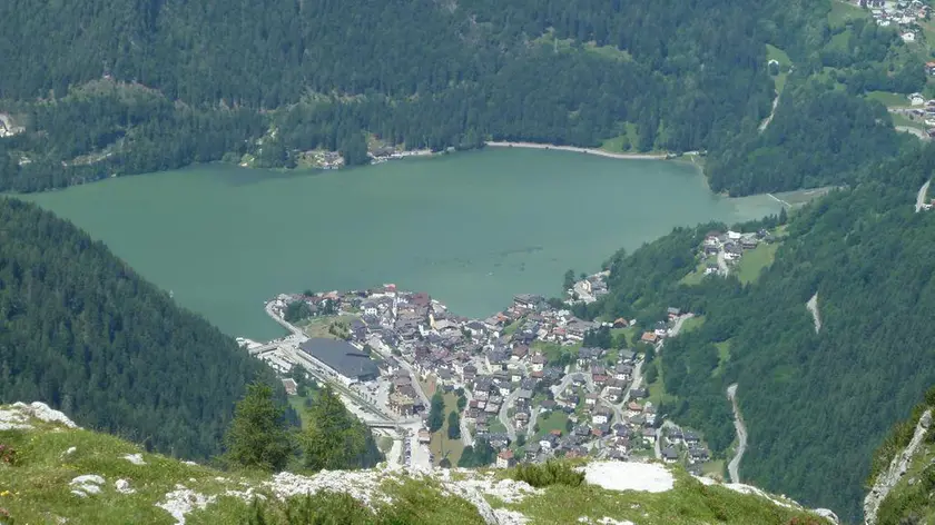
[[[608,275],[582,276],[568,290],[568,303],[606,294]],[[318,328],[285,320],[298,310],[308,317],[294,320],[296,325]],[[280,295],[267,304],[267,313],[292,327],[291,337],[299,339],[293,341],[295,351],[253,343],[250,353],[284,377],[295,365],[314,372],[345,390],[361,414],[370,405],[372,414],[382,415],[373,419],[374,427],[396,425],[406,436],[393,449],[406,464],[444,465],[445,449],[429,450],[439,439],[426,425],[435,392],[461,399],[455,408],[445,406],[445,416],[459,413],[460,428],[453,433],[460,435],[453,442],[460,442],[457,448],[483,442],[493,448],[498,466],[554,456],[654,458],[683,463],[700,474],[711,459],[698,433],[663,420],[642,384],[646,351],[661,351],[665,340],[692,317],[676,307],[653,326],[638,327],[622,318],[579,319],[560,300],[523,294],[503,311],[470,319],[453,315],[427,294],[384,285]],[[337,320],[322,334],[327,319]],[[631,347],[585,346],[609,331],[632,335]],[[285,385],[295,393],[295,382],[285,379]]]

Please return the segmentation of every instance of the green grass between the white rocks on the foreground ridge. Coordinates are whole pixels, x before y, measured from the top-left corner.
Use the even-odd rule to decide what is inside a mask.
[[[124,525],[128,523],[171,524],[176,519],[156,504],[181,484],[211,498],[205,508],[188,513],[191,525],[217,523],[406,523],[411,525],[480,525],[484,521],[475,506],[454,496],[433,476],[407,477],[403,473],[374,472],[373,507],[346,494],[322,492],[278,501],[269,488],[267,474],[220,472],[184,464],[159,454],[148,454],[138,446],[114,436],[82,429],[63,429],[41,424],[37,430],[0,432],[0,443],[17,450],[13,465],[0,462],[0,508],[9,514],[4,523],[69,523],[73,525]],[[72,453],[67,453],[75,447]],[[135,465],[124,455],[140,454],[145,465]],[[612,492],[581,483],[578,462],[501,470],[500,478],[520,477],[542,487],[518,503],[505,504],[485,496],[496,507],[522,512],[530,524],[578,523],[581,516],[592,522],[608,516],[636,519],[641,525],[687,525],[697,523],[786,525],[794,517],[809,517],[767,503],[754,495],[741,495],[719,486],[705,487],[687,473],[675,469],[672,491]],[[85,474],[100,475],[101,492],[88,497],[71,493],[70,482]],[[366,475],[366,474],[361,474]],[[478,475],[483,475],[478,473]],[[455,474],[455,477],[468,477]],[[115,482],[126,479],[136,493],[120,494]],[[247,487],[266,498],[259,508],[227,491]],[[381,503],[384,501],[392,503]],[[263,521],[256,519],[256,514]],[[288,518],[292,516],[292,519]],[[809,522],[806,522],[809,523]],[[817,522],[821,523],[821,522]]]

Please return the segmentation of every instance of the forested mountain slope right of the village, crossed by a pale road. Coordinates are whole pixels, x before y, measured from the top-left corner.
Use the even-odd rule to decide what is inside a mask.
[[[677,305],[703,315],[657,363],[675,396],[660,412],[724,452],[735,436],[725,390],[738,383],[742,478],[850,519],[870,453],[935,383],[935,216],[913,206],[935,148],[860,170],[864,182],[793,216],[755,283],[679,283],[709,228],[682,229],[611,260],[612,294],[590,311],[659,318]],[[816,293],[817,334],[805,307]]]

